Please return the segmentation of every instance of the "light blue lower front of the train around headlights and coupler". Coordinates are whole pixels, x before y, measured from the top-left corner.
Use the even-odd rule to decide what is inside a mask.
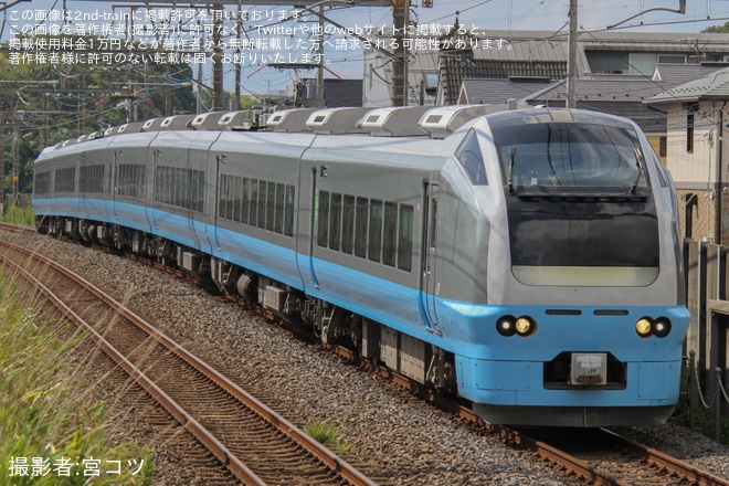
[[[631,307],[623,309],[626,315],[595,315],[595,308],[573,307],[574,315],[559,316],[539,306],[495,309],[498,316],[529,315],[537,330],[528,337],[505,337],[496,331],[497,317],[484,319],[480,340],[464,340],[465,348],[456,352],[458,392],[478,404],[485,420],[567,426],[661,423],[678,402],[689,323],[685,307]],[[638,336],[635,323],[643,316],[670,319],[670,334]],[[465,328],[473,331],[475,326]],[[571,382],[573,353],[610,357],[608,383]],[[554,371],[560,367],[563,374]]]

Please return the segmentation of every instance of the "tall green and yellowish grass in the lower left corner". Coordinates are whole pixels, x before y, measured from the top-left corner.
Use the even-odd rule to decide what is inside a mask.
[[[27,307],[0,268],[0,485],[148,484],[149,451],[110,445],[107,405],[64,359],[84,337]]]

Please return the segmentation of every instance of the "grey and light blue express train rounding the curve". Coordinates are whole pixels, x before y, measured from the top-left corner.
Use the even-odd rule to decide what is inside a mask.
[[[180,268],[493,424],[657,424],[679,399],[675,188],[626,118],[178,115],[46,147],[33,192],[39,232]]]

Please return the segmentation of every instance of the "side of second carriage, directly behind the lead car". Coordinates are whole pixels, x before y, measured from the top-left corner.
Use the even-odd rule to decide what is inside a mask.
[[[295,234],[300,213],[299,159],[314,136],[271,144],[250,131],[223,131],[211,147],[216,180],[214,255],[285,285],[302,287]]]

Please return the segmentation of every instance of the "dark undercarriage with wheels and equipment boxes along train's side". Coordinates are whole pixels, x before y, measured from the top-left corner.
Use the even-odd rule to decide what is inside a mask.
[[[441,393],[457,392],[453,353],[231,262],[144,231],[85,219],[38,216],[36,230],[178,268],[211,289],[260,306],[275,318],[310,326],[324,344],[347,346],[360,358],[384,363]]]

